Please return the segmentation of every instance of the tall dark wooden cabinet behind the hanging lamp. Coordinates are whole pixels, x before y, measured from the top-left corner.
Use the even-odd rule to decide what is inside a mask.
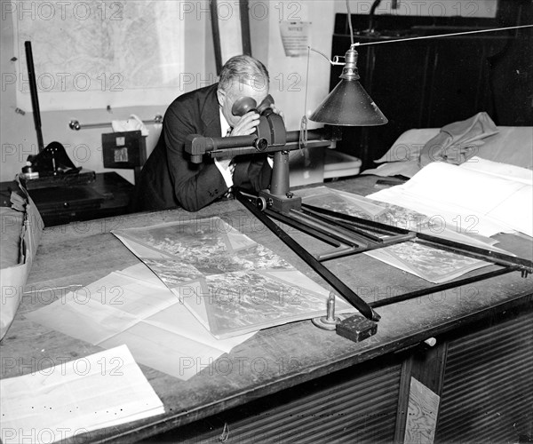
[[[346,20],[346,14],[336,17],[332,55],[343,55],[350,46]],[[356,41],[361,44],[514,24],[499,19],[378,16],[378,33],[369,35],[361,31],[368,27],[368,20],[366,15],[352,16]],[[384,155],[394,140],[411,128],[439,128],[480,111],[489,113],[498,125],[532,125],[531,87],[527,80],[533,72],[528,48],[530,51],[530,31],[406,40],[356,48],[360,82],[389,123],[343,128],[340,151],[360,157],[364,170],[374,167],[372,161]],[[513,68],[517,66],[520,75]],[[341,70],[342,67],[332,67],[330,89],[338,83]]]

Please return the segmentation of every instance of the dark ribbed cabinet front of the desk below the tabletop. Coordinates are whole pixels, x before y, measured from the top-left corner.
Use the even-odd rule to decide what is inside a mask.
[[[386,354],[163,433],[157,441],[424,442],[432,428],[427,413],[404,440],[407,416],[416,410],[409,408],[414,377],[440,396],[434,442],[530,442],[533,305],[530,298],[524,302],[457,325],[434,347],[422,343]]]

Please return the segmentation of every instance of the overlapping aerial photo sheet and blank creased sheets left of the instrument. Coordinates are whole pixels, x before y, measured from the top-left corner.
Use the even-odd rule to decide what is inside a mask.
[[[27,318],[187,380],[259,329],[323,316],[329,292],[220,218],[114,232],[144,264]],[[146,265],[145,265],[146,264]],[[354,307],[337,298],[337,313]]]

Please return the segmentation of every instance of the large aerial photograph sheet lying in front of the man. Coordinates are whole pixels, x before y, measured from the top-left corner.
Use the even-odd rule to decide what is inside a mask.
[[[214,337],[324,315],[329,291],[221,218],[113,232]],[[337,313],[355,309],[337,298]]]

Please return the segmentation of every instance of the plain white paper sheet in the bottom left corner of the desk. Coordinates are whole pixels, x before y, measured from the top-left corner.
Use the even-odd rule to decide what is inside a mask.
[[[66,440],[164,413],[125,345],[2,379],[0,392],[4,444]]]

